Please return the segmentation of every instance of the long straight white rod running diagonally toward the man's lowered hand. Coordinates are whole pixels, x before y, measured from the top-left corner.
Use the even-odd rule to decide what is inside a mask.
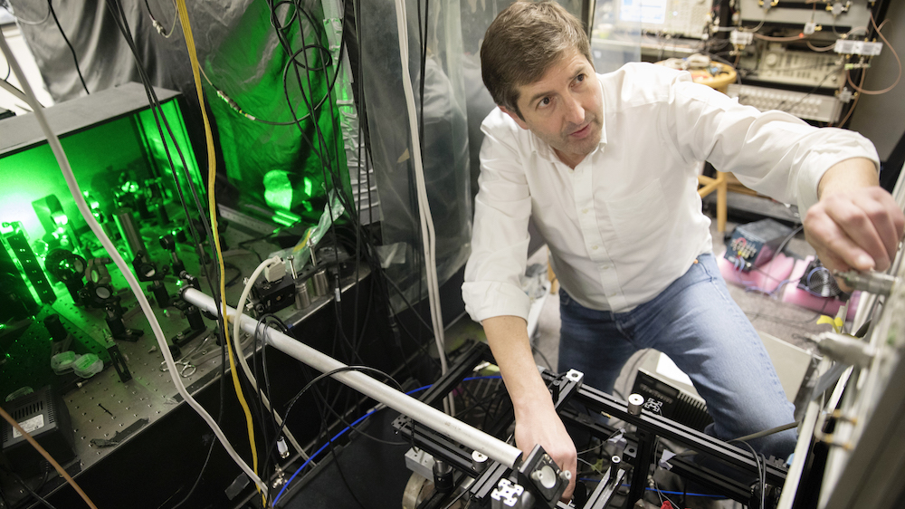
[[[216,314],[219,307],[213,298],[191,287],[186,287],[182,293],[182,298],[188,303],[192,303],[213,314]],[[235,310],[227,307],[225,314],[234,318]],[[235,320],[233,319],[234,322]],[[239,325],[243,331],[254,334],[258,321],[243,313],[240,315]],[[304,362],[315,370],[326,373],[347,366],[329,355],[321,353],[300,341],[296,341],[271,327],[261,328],[261,330],[264,331],[264,341],[270,344],[271,347]],[[365,396],[376,399],[387,407],[413,418],[438,433],[442,433],[467,447],[480,451],[505,466],[517,468],[521,462],[521,451],[518,448],[510,446],[499,438],[491,437],[491,435],[484,433],[480,429],[471,427],[456,418],[452,418],[436,408],[425,405],[421,401],[393,389],[383,382],[372,379],[364,373],[344,371],[333,374],[331,377],[352,389],[356,389]]]

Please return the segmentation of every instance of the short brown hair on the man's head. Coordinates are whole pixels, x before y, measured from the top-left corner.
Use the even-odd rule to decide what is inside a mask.
[[[570,50],[585,55],[594,66],[587,34],[574,15],[552,1],[515,2],[497,15],[484,34],[484,86],[493,101],[521,118],[517,87],[538,81]]]

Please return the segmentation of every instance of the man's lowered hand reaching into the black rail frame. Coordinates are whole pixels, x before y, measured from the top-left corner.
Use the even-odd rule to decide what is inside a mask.
[[[516,447],[528,456],[531,449],[539,444],[544,451],[553,458],[560,470],[572,473],[566,491],[563,492],[562,501],[572,499],[575,491],[575,482],[578,467],[578,454],[572,437],[569,437],[562,420],[557,416],[556,410],[541,408],[529,411],[527,414],[517,415],[515,419],[515,444]]]

